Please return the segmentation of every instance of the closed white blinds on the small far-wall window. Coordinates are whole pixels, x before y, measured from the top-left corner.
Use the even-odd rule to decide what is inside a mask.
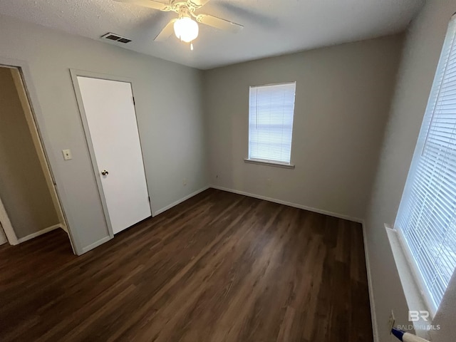
[[[290,163],[296,82],[250,87],[249,159]]]

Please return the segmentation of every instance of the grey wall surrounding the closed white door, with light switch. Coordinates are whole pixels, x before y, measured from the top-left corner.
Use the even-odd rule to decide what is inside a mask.
[[[0,31],[0,61],[28,65],[26,83],[76,252],[109,235],[70,68],[132,80],[153,212],[207,185],[201,71],[8,16],[0,16]],[[61,150],[68,148],[73,160],[65,161]]]

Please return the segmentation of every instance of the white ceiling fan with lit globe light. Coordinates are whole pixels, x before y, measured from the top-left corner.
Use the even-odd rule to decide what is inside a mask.
[[[195,11],[207,4],[209,0],[171,0],[165,4],[155,0],[115,0],[126,4],[136,4],[139,6],[149,7],[150,9],[159,9],[160,11],[174,11],[179,14],[178,18],[172,19],[165,28],[162,29],[154,41],[165,41],[175,32],[177,38],[186,43],[190,43],[193,50],[193,41],[197,38],[199,27],[197,23],[205,24],[220,30],[237,33],[244,26],[235,24],[232,21],[217,18],[209,14],[195,14]]]

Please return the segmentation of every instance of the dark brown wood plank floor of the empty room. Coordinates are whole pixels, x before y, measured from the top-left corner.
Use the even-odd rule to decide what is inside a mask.
[[[0,341],[373,341],[360,224],[207,190],[73,256],[0,247]]]

